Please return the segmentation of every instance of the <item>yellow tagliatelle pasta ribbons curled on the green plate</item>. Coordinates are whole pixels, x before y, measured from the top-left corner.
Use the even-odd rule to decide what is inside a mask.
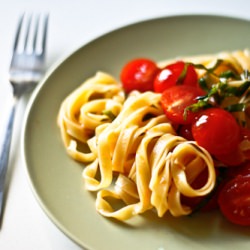
[[[247,50],[185,60],[213,67],[218,58],[237,73],[250,69]],[[160,98],[151,91],[126,96],[111,75],[97,72],[61,104],[57,122],[66,151],[84,163],[86,189],[97,192],[96,210],[105,217],[123,221],[147,210],[159,217],[168,211],[173,216],[188,215],[192,209],[181,197],[205,196],[215,186],[211,155],[176,134]],[[203,171],[206,182],[193,188]]]

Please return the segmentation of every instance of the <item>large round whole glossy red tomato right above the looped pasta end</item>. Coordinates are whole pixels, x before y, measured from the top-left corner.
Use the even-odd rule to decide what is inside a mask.
[[[209,108],[199,113],[192,125],[196,142],[214,155],[225,155],[237,150],[240,127],[224,109]]]

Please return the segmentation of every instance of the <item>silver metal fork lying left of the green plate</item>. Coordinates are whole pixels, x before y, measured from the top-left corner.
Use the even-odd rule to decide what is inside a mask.
[[[32,90],[44,75],[48,18],[48,14],[36,16],[23,14],[17,26],[9,68],[13,102],[0,154],[0,221],[3,214],[4,186],[16,104],[20,97]]]

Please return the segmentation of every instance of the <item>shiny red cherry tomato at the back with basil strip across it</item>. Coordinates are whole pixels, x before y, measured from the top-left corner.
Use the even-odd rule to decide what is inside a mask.
[[[162,93],[174,85],[198,86],[198,76],[191,64],[177,61],[163,68],[155,77],[154,91]]]

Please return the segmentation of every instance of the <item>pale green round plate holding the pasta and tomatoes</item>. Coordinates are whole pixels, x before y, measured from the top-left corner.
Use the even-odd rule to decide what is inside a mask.
[[[125,223],[95,211],[95,195],[84,189],[83,165],[68,157],[56,117],[62,100],[102,70],[118,77],[135,57],[163,60],[250,46],[250,22],[220,16],[173,16],[108,33],[69,55],[47,74],[28,106],[23,155],[32,189],[50,219],[91,250],[248,249],[250,229],[218,212],[159,219],[153,212]]]

